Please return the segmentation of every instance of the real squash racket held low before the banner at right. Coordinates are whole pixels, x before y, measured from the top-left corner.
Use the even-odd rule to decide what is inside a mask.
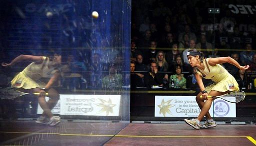
[[[200,96],[200,98],[201,97],[202,96]],[[230,103],[239,103],[239,102],[244,100],[245,93],[243,91],[234,91],[234,92],[230,92],[230,93],[227,93],[227,94],[224,94],[224,95],[221,95],[221,96],[207,96],[207,98],[213,98],[213,97],[221,98],[221,99],[223,99],[227,102],[230,102]],[[232,97],[235,98],[235,101]]]

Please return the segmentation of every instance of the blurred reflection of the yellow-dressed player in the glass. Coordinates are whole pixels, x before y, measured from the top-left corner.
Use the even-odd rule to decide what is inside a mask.
[[[18,73],[11,81],[11,86],[16,90],[26,93],[40,93],[38,102],[43,110],[42,115],[37,118],[36,123],[54,126],[60,122],[58,116],[53,116],[51,110],[59,100],[58,92],[52,88],[58,81],[60,75],[58,67],[61,64],[61,55],[54,54],[53,57],[19,55],[10,63],[1,63],[2,66],[13,66],[17,62],[32,61],[23,71]],[[49,78],[45,84],[39,79]],[[45,93],[50,98],[45,101]]]

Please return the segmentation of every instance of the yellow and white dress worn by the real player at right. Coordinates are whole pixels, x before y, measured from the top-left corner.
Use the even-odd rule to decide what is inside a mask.
[[[197,73],[205,78],[211,79],[213,84],[205,87],[209,93],[211,90],[226,92],[226,91],[239,91],[238,83],[235,78],[227,72],[220,64],[210,66],[208,58],[203,60],[204,70],[197,69]]]

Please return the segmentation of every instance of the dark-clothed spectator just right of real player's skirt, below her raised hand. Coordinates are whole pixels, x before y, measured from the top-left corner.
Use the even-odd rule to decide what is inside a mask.
[[[234,77],[240,90],[248,89],[247,76],[244,70],[239,70]]]

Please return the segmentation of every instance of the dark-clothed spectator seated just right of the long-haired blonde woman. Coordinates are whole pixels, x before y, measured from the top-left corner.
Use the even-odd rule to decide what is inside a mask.
[[[166,52],[166,55],[165,55],[165,58],[166,58],[166,61],[168,62],[169,67],[175,63],[175,59],[177,55],[180,55],[178,50],[178,45],[176,42],[173,42],[171,50]]]

